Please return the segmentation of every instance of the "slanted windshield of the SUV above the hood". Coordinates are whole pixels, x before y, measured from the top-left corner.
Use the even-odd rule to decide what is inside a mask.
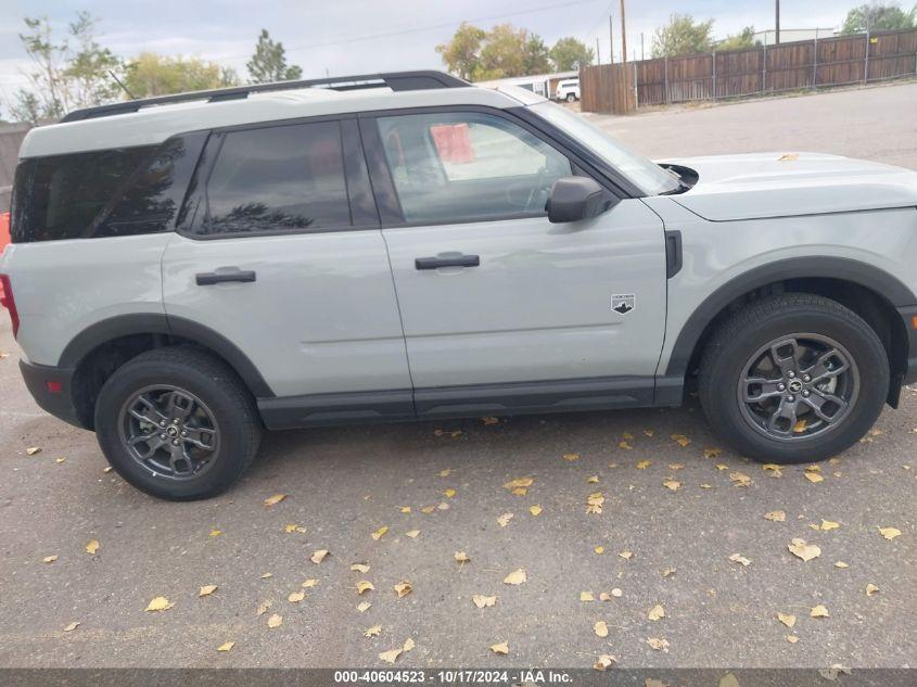
[[[531,110],[566,131],[626,176],[647,195],[671,193],[678,189],[678,180],[673,175],[654,162],[627,150],[585,117],[549,102],[531,105]]]

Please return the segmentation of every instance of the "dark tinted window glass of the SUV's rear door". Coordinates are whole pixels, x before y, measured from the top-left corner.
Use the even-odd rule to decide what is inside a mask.
[[[340,123],[226,133],[207,180],[206,201],[199,233],[349,225]]]

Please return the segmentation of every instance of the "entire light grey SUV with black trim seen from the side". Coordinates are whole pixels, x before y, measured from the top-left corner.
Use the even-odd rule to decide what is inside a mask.
[[[917,380],[917,173],[651,162],[436,72],[247,86],[33,129],[0,258],[37,403],[168,499],[265,429],[666,407],[766,462]]]

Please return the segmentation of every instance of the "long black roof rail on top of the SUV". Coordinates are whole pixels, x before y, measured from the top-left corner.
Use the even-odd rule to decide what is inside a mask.
[[[169,105],[194,100],[206,100],[207,102],[219,102],[224,100],[241,100],[250,93],[264,93],[266,91],[286,91],[297,88],[328,88],[337,91],[359,90],[364,88],[389,87],[393,91],[416,91],[434,88],[464,88],[471,86],[468,81],[446,74],[445,72],[391,72],[387,74],[360,74],[356,76],[331,76],[323,79],[307,79],[297,81],[275,81],[272,84],[252,84],[250,86],[234,86],[231,88],[218,88],[207,91],[191,91],[188,93],[175,93],[173,96],[157,96],[155,98],[141,98],[126,102],[112,103],[110,105],[98,105],[95,107],[84,107],[74,110],[64,115],[61,122],[79,122],[81,119],[94,119],[97,117],[110,117],[118,114],[138,112],[143,107],[153,105]]]

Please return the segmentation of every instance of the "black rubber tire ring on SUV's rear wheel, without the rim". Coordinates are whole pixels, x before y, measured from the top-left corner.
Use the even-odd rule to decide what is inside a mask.
[[[173,384],[207,404],[219,425],[219,447],[214,465],[200,478],[174,481],[155,476],[122,445],[118,422],[124,403],[144,386]],[[216,381],[192,368],[162,361],[137,361],[117,370],[102,387],[95,404],[95,434],[115,471],[147,494],[169,500],[213,496],[232,484],[247,465],[239,447],[247,446],[238,408]]]

